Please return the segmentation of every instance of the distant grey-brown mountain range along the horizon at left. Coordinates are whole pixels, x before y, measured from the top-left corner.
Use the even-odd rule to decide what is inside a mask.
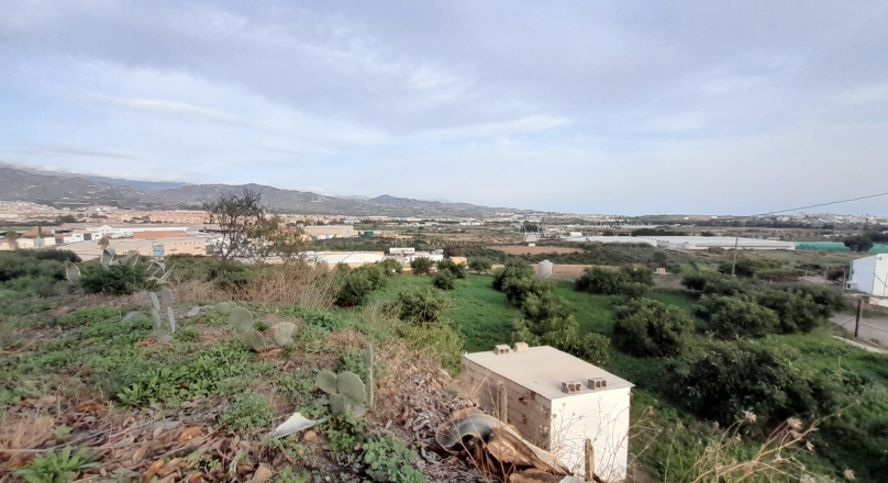
[[[271,210],[287,213],[418,217],[485,217],[501,213],[526,213],[513,209],[413,200],[388,194],[370,199],[325,196],[263,184],[186,184],[134,181],[0,166],[0,200],[29,201],[55,206],[98,204],[129,209],[200,210],[204,201],[214,200],[223,193],[241,192],[244,189],[260,192],[263,202]]]

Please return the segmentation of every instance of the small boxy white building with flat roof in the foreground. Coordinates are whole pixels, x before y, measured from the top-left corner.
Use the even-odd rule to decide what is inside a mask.
[[[548,450],[574,474],[586,475],[586,440],[595,449],[595,473],[625,480],[630,391],[633,384],[548,346],[517,344],[463,356],[468,384],[491,415],[507,401],[508,420],[521,436]]]

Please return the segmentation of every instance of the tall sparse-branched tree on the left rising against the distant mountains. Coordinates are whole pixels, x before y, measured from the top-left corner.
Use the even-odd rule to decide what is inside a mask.
[[[214,201],[203,203],[210,224],[219,225],[219,238],[213,243],[221,269],[236,257],[249,257],[254,249],[252,236],[265,223],[266,207],[262,193],[244,188],[242,194],[222,193]]]

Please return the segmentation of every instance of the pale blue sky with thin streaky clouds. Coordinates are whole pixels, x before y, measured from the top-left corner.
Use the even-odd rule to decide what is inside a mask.
[[[0,11],[4,162],[571,213],[888,191],[885,0]],[[888,196],[823,211],[888,214]]]

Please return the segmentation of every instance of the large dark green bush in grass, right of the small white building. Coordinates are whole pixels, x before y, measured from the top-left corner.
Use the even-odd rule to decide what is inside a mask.
[[[817,409],[812,378],[797,369],[791,348],[714,342],[707,349],[670,371],[676,395],[698,416],[726,426],[748,411],[769,425]]]

